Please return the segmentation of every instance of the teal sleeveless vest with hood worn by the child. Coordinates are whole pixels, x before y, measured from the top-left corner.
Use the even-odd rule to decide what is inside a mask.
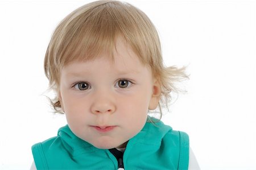
[[[32,146],[36,168],[118,169],[109,150],[98,149],[78,138],[67,126],[54,138]],[[127,143],[123,154],[125,169],[188,169],[189,138],[161,121],[147,122]]]

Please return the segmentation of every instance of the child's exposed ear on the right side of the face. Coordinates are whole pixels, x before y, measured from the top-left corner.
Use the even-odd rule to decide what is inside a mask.
[[[158,106],[161,97],[161,85],[158,80],[154,80],[154,84],[152,86],[152,96],[150,99],[150,104],[148,106],[149,110],[154,110]]]

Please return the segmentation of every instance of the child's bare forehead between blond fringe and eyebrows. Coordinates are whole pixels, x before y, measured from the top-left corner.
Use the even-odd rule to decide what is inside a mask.
[[[150,71],[146,65],[142,64],[130,45],[121,38],[117,39],[112,54],[113,57],[110,57],[108,52],[102,52],[94,59],[71,62],[63,68],[63,72],[75,76],[81,73],[100,73],[102,70],[112,74],[137,74]]]

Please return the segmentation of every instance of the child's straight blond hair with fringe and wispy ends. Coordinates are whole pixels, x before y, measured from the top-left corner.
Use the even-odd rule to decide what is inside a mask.
[[[153,76],[158,78],[162,86],[160,102],[167,105],[170,93],[179,91],[175,82],[187,77],[185,68],[164,67],[158,32],[151,20],[136,7],[119,1],[88,3],[59,23],[44,59],[49,88],[58,92],[61,68],[71,61],[90,60],[101,52],[109,52],[112,56],[119,36],[131,45],[141,63],[150,67]],[[57,112],[61,111],[57,96],[52,100],[52,106]]]

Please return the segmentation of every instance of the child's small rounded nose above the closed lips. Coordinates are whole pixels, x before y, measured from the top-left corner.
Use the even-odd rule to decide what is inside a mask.
[[[109,93],[98,93],[94,96],[91,106],[93,114],[114,113],[115,105],[113,97]]]

